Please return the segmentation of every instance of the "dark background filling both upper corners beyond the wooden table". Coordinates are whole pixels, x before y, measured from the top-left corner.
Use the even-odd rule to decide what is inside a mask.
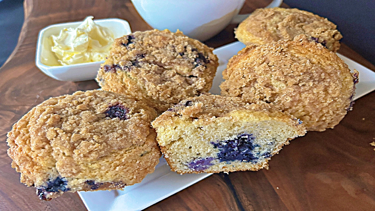
[[[375,0],[284,0],[291,8],[328,18],[348,45],[375,65]],[[23,0],[0,0],[0,66],[17,45],[24,20]]]

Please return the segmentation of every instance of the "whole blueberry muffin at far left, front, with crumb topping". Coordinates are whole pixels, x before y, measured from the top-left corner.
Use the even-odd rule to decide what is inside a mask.
[[[159,163],[156,112],[123,95],[99,90],[50,98],[8,133],[8,155],[21,182],[40,199],[64,192],[122,189]]]

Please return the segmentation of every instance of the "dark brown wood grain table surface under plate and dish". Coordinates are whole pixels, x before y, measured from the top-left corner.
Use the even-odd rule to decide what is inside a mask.
[[[241,13],[270,0],[248,0]],[[20,183],[10,167],[6,133],[32,107],[52,96],[98,88],[95,81],[62,82],[35,66],[39,30],[55,23],[117,17],[133,31],[151,29],[129,0],[26,0],[18,45],[0,69],[0,210],[86,210],[77,193],[49,202],[34,187]],[[283,5],[287,7],[287,5]],[[219,47],[235,41],[229,25],[205,43]],[[17,36],[17,35],[10,35]],[[342,45],[339,53],[375,70],[375,66]],[[214,174],[147,210],[375,210],[375,92],[356,101],[335,129],[308,132],[275,155],[269,170]]]

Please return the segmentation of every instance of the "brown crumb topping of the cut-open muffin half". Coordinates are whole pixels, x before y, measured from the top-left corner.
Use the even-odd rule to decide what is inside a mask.
[[[216,121],[216,118],[229,117],[233,112],[252,112],[254,118],[269,120],[270,117],[292,125],[300,125],[302,122],[291,115],[285,115],[273,104],[258,101],[257,104],[249,104],[239,97],[211,95],[203,93],[201,96],[187,98],[174,107],[171,107],[155,121],[153,127],[170,125],[171,119],[192,121],[195,124],[208,125]]]

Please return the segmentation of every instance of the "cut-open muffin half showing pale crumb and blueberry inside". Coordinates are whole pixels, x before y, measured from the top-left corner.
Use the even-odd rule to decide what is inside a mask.
[[[152,126],[166,161],[178,173],[268,168],[272,155],[306,133],[301,121],[273,105],[220,95],[183,100]]]

